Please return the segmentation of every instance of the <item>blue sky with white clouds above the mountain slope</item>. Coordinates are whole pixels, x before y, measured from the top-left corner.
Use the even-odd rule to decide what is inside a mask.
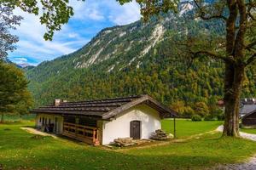
[[[20,26],[13,31],[20,37],[15,52],[9,59],[15,63],[38,65],[63,54],[70,54],[83,47],[96,33],[110,26],[121,26],[140,19],[137,3],[120,6],[115,0],[71,0],[74,16],[61,31],[55,32],[52,42],[44,41],[45,27],[39,23],[38,16],[26,14],[15,9],[15,14],[24,17]]]

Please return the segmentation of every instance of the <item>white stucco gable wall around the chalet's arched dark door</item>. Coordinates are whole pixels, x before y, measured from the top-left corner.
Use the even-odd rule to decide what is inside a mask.
[[[151,134],[161,128],[158,111],[148,105],[137,105],[115,117],[111,122],[102,123],[102,144],[109,144],[113,139],[130,137],[130,122],[141,122],[141,138],[149,139]]]

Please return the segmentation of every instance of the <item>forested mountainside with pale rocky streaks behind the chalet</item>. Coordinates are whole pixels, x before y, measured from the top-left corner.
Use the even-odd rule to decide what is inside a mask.
[[[166,14],[145,24],[137,21],[98,33],[83,48],[26,71],[36,105],[53,99],[100,99],[150,94],[166,105],[215,105],[223,96],[220,61],[180,57],[177,35],[224,34],[223,23],[188,20],[190,3],[181,14]],[[256,95],[256,69],[247,71],[243,97]]]

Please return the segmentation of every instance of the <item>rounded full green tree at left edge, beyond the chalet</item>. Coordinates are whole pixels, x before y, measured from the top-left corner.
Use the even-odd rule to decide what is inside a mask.
[[[26,114],[32,107],[32,96],[27,91],[27,81],[15,65],[0,61],[0,115]]]

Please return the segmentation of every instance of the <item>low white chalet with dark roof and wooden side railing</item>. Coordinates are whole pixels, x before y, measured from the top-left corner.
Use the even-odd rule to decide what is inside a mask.
[[[177,113],[148,95],[67,102],[55,99],[32,111],[36,127],[87,144],[109,144],[113,139],[149,139],[160,120]]]

